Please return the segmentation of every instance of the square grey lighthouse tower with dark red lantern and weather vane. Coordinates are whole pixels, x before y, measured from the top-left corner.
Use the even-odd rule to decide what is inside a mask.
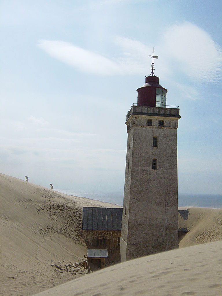
[[[178,248],[177,128],[179,107],[151,74],[126,115],[127,153],[121,261]]]

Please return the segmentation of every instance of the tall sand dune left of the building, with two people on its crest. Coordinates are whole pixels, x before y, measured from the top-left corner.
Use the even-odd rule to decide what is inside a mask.
[[[73,279],[51,260],[79,262],[86,254],[83,206],[117,207],[0,174],[0,295],[32,295]]]

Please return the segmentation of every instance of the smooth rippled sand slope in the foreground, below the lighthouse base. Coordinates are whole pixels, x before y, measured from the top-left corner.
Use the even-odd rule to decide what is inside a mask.
[[[221,250],[219,241],[150,255],[110,266],[37,295],[221,295]]]

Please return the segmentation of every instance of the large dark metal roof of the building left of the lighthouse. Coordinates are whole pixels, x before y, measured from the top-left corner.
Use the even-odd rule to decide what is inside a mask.
[[[83,230],[121,230],[123,208],[83,207]]]

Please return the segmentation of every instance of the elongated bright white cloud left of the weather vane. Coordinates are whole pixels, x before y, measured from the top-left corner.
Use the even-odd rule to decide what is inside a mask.
[[[115,37],[114,43],[128,50],[122,57],[108,59],[102,54],[91,52],[64,41],[41,40],[38,46],[50,56],[76,67],[81,72],[96,75],[125,75],[144,73],[144,59],[151,52],[139,41],[129,38]],[[138,54],[140,53],[140,54]]]

